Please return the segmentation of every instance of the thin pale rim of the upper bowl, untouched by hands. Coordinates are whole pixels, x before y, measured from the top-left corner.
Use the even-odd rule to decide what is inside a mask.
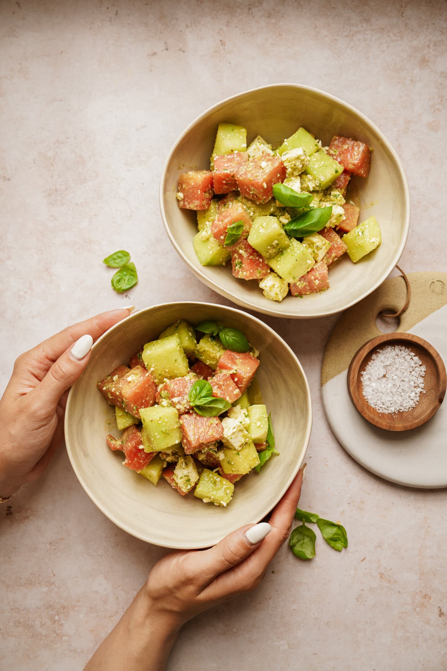
[[[277,312],[273,307],[269,309],[268,307],[262,308],[259,307],[258,305],[255,305],[254,303],[251,303],[251,301],[245,300],[236,293],[231,293],[230,291],[227,291],[223,287],[221,287],[218,282],[215,282],[214,280],[208,278],[204,272],[202,272],[201,267],[196,268],[192,262],[188,259],[186,254],[182,252],[180,249],[180,246],[176,242],[176,238],[172,234],[172,231],[170,229],[170,225],[168,223],[168,217],[166,215],[166,209],[164,205],[164,195],[165,195],[165,183],[166,183],[166,174],[168,172],[168,165],[170,164],[170,161],[172,160],[172,156],[174,152],[176,151],[176,148],[180,141],[196,126],[200,121],[202,121],[210,112],[214,111],[215,109],[218,109],[220,105],[223,105],[224,103],[229,103],[232,100],[237,100],[238,98],[242,98],[245,95],[248,95],[250,93],[255,93],[255,91],[267,91],[269,89],[276,89],[278,87],[292,87],[294,89],[298,89],[299,91],[311,91],[312,93],[318,93],[319,95],[323,95],[327,99],[329,99],[332,102],[338,103],[340,105],[343,105],[346,107],[349,111],[357,114],[361,119],[363,120],[366,125],[369,125],[375,133],[381,138],[381,141],[383,144],[386,146],[387,150],[395,160],[395,163],[397,165],[397,169],[401,178],[401,182],[403,185],[403,199],[404,199],[404,207],[405,207],[405,229],[403,231],[403,236],[401,239],[401,243],[399,244],[399,247],[397,248],[390,264],[387,266],[387,269],[383,274],[381,275],[381,279],[377,280],[375,284],[371,285],[367,291],[364,291],[359,297],[354,299],[353,301],[350,301],[350,303],[347,303],[342,307],[341,309],[333,309],[333,310],[328,310],[323,313],[318,313],[317,315],[312,315],[312,314],[306,314],[306,313],[299,313],[299,312]],[[249,310],[254,310],[255,312],[260,312],[264,315],[270,315],[271,317],[280,317],[283,319],[318,319],[319,317],[328,317],[329,315],[335,315],[338,314],[344,310],[347,310],[349,307],[352,307],[353,305],[356,305],[360,301],[362,301],[364,298],[369,296],[377,287],[380,287],[382,282],[387,278],[387,276],[390,274],[390,272],[395,268],[395,265],[399,261],[399,259],[402,256],[403,250],[405,248],[405,244],[407,244],[407,238],[408,238],[408,233],[409,233],[409,221],[410,221],[410,199],[409,199],[409,187],[408,187],[408,181],[407,181],[407,176],[405,174],[405,170],[403,169],[403,164],[396,152],[396,150],[393,148],[389,140],[385,137],[385,135],[379,130],[377,125],[373,123],[365,114],[363,114],[357,107],[353,107],[353,105],[350,105],[349,103],[345,103],[342,99],[335,97],[334,95],[331,95],[330,93],[326,93],[326,91],[322,91],[321,89],[315,89],[314,87],[308,87],[308,86],[303,86],[301,84],[291,84],[291,83],[277,83],[277,84],[269,84],[267,86],[261,86],[261,87],[256,87],[255,89],[248,89],[247,91],[243,91],[242,93],[236,93],[235,95],[231,95],[228,98],[222,99],[218,103],[215,103],[214,105],[211,105],[206,109],[202,114],[198,115],[186,128],[185,130],[178,136],[177,140],[174,142],[172,145],[170,152],[168,153],[168,156],[164,162],[164,166],[162,168],[162,174],[160,176],[160,184],[159,184],[159,208],[160,208],[160,213],[162,215],[164,227],[166,229],[166,233],[168,234],[168,238],[170,239],[172,245],[174,246],[176,252],[180,255],[180,257],[184,260],[184,262],[189,266],[190,270],[194,273],[194,275],[204,283],[207,287],[210,289],[213,289],[213,291],[216,291],[218,294],[221,296],[225,297],[229,301],[232,301],[233,303],[236,303],[237,305],[240,305],[241,307],[245,307]],[[273,301],[271,301],[273,303]]]

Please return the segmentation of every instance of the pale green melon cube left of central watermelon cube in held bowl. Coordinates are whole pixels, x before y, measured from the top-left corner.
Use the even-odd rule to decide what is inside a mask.
[[[145,452],[164,452],[182,442],[178,412],[173,407],[153,405],[139,411],[143,423],[141,442]]]

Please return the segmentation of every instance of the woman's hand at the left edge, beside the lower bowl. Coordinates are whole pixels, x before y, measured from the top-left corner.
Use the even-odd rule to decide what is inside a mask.
[[[94,340],[132,309],[81,321],[17,358],[0,401],[0,497],[44,472],[62,442],[68,389],[88,364]]]

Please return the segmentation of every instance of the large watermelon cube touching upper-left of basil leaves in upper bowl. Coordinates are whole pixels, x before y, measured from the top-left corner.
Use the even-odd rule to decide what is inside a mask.
[[[273,197],[273,185],[285,180],[285,167],[279,156],[257,156],[242,166],[236,176],[241,194],[256,203]]]

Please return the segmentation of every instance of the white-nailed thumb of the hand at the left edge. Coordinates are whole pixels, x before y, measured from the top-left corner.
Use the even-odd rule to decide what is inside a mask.
[[[59,399],[80,376],[90,359],[93,338],[82,335],[68,350],[64,352],[48,370],[46,376],[36,386],[36,393],[41,401],[54,411]]]

